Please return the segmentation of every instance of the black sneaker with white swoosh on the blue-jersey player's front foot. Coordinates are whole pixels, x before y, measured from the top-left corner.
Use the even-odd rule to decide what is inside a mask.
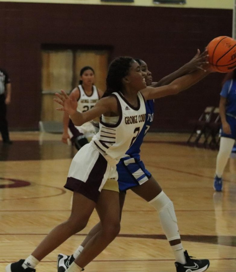
[[[178,262],[175,262],[176,271],[177,272],[203,272],[206,271],[207,268],[210,265],[209,260],[196,260],[191,259],[189,256],[187,250],[184,251],[184,256],[186,258],[186,264],[180,264]]]

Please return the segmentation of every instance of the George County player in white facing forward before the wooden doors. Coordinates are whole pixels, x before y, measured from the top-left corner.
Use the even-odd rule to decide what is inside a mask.
[[[90,66],[85,66],[80,70],[79,85],[75,87],[69,97],[73,95],[78,101],[77,111],[86,112],[97,103],[102,97],[101,92],[94,85],[95,72]],[[69,114],[64,112],[63,115],[63,134],[62,142],[68,144],[71,141],[79,150],[83,145],[91,141],[92,137],[97,133],[96,128],[91,122],[86,122],[81,126],[75,126],[69,118]]]

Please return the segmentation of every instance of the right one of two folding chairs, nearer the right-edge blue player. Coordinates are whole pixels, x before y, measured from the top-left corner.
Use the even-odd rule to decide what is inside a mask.
[[[221,127],[221,120],[220,120],[220,114],[219,114],[219,108],[215,108],[214,111],[212,112],[211,120],[207,126],[206,126],[206,138],[204,141],[204,145],[206,146],[207,144],[211,148],[216,148],[219,146],[219,131]],[[211,137],[210,142],[208,143],[209,138]]]

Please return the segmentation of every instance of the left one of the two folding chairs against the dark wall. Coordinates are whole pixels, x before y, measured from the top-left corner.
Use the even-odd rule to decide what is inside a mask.
[[[202,135],[204,136],[205,140],[206,140],[206,125],[210,122],[211,120],[211,116],[212,116],[212,113],[214,111],[214,108],[215,107],[206,107],[204,112],[201,114],[201,116],[199,117],[198,120],[191,120],[189,123],[191,125],[194,125],[194,128],[193,128],[193,131],[192,133],[190,134],[188,140],[187,140],[187,143],[191,143],[191,139],[193,137],[194,138],[194,141],[193,143],[194,144],[198,144],[200,138],[202,137]]]

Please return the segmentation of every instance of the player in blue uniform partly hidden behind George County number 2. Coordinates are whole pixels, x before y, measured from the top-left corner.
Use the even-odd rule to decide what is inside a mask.
[[[189,73],[190,71],[199,67],[199,62],[204,59],[204,54],[199,56],[199,52],[196,56],[185,66],[181,67],[176,72],[171,75],[161,79],[159,83],[152,83],[151,72],[148,70],[147,64],[140,59],[136,61],[140,65],[140,69],[145,73],[145,81],[147,86],[158,86],[165,85],[169,83],[169,80],[173,80],[182,76],[184,73]],[[126,155],[120,159],[119,163],[116,165],[118,172],[118,184],[120,190],[120,218],[126,197],[126,190],[131,189],[134,193],[144,198],[149,202],[157,211],[159,212],[159,217],[161,221],[164,233],[171,245],[176,259],[176,268],[178,271],[186,271],[192,267],[196,267],[194,263],[197,263],[198,270],[195,271],[205,271],[209,267],[209,261],[207,260],[193,260],[188,256],[187,251],[184,252],[180,235],[177,227],[177,219],[174,215],[173,204],[170,199],[164,194],[161,187],[158,185],[157,181],[151,176],[151,173],[145,168],[142,160],[140,160],[140,146],[143,142],[143,138],[147,133],[151,123],[153,121],[154,115],[154,100],[147,100],[145,102],[146,106],[146,120],[142,131],[139,133],[136,141],[132,144]],[[109,187],[103,187],[104,190],[110,190]],[[170,208],[171,207],[171,208]],[[174,215],[174,220],[169,215],[171,212]],[[101,229],[98,223],[87,235],[82,244],[77,248],[75,253],[71,256],[64,254],[58,255],[58,272],[64,272],[67,267],[74,261],[82,251],[87,242]],[[187,267],[187,268],[184,268]]]

